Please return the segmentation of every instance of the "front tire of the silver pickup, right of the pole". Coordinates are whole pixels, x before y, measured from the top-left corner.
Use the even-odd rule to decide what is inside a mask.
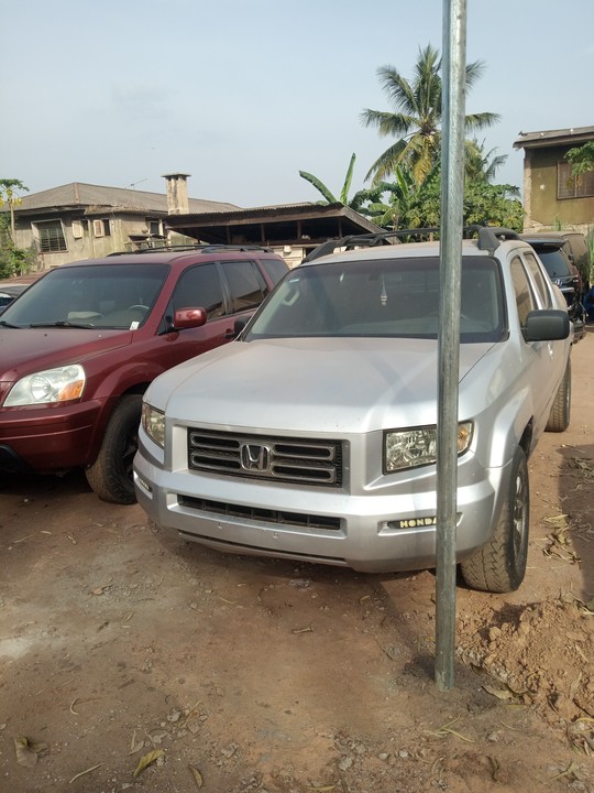
[[[507,497],[490,542],[460,564],[472,589],[514,591],[524,580],[528,556],[530,488],[526,454],[518,446],[509,470]]]

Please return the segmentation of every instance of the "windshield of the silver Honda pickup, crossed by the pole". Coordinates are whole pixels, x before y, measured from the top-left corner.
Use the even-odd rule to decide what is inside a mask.
[[[464,258],[462,341],[497,341],[506,328],[495,260]],[[254,318],[245,340],[263,337],[437,338],[439,259],[386,259],[296,268]]]

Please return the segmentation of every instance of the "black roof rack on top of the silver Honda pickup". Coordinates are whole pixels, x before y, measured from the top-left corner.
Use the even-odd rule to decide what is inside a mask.
[[[439,233],[441,229],[439,226],[432,226],[426,228],[396,229],[393,231],[382,231],[380,233],[371,232],[333,238],[322,242],[317,248],[314,248],[314,250],[306,256],[304,262],[310,262],[314,259],[332,253],[337,248],[353,250],[354,248],[373,248],[381,245],[398,245],[402,242],[403,237],[429,237],[431,235]],[[517,231],[498,226],[465,226],[462,232],[464,239],[477,236],[479,249],[488,250],[491,253],[499,247],[503,240],[521,239],[521,236]]]

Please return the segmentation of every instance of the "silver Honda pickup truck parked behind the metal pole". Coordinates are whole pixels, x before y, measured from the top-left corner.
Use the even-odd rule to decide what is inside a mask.
[[[435,567],[439,243],[364,242],[315,251],[238,340],[148,387],[134,484],[157,524],[232,553]],[[457,544],[473,588],[524,578],[527,458],[569,425],[572,337],[526,241],[464,240]]]

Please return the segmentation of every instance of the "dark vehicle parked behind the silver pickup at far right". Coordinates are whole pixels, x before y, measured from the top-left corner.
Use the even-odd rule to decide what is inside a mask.
[[[553,233],[525,233],[521,238],[532,246],[549,278],[563,293],[578,341],[585,336],[582,279],[565,253],[565,239]]]

